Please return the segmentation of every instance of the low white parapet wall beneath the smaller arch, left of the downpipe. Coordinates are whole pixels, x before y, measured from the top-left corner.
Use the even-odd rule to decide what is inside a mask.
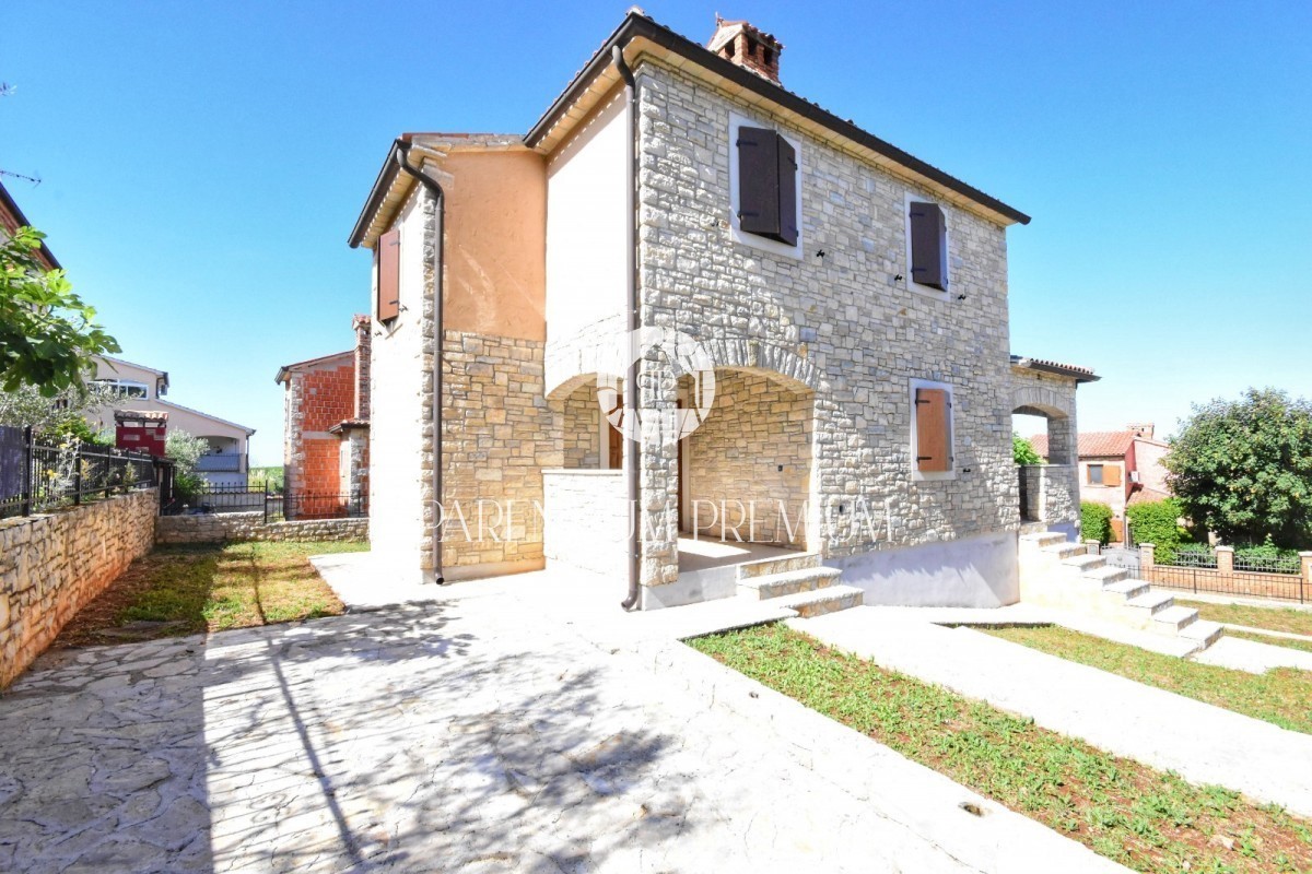
[[[628,580],[628,493],[621,470],[543,470],[546,560],[600,574],[622,598]]]

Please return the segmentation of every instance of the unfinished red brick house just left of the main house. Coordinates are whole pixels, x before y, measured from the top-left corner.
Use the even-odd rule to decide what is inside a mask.
[[[369,498],[369,316],[352,322],[356,347],[278,370],[283,387],[282,466],[300,514],[363,515]]]

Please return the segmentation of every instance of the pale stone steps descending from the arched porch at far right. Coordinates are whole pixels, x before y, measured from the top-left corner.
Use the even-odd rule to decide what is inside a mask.
[[[1094,613],[1120,625],[1176,637],[1186,655],[1202,653],[1224,634],[1219,622],[1178,607],[1123,567],[1090,556],[1081,544],[1054,532],[1021,535],[1021,599],[1047,607]]]

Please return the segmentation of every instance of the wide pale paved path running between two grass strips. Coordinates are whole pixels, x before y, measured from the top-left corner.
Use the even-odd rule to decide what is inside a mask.
[[[891,621],[878,608],[789,625],[1195,784],[1220,784],[1312,816],[1312,735],[968,628]]]

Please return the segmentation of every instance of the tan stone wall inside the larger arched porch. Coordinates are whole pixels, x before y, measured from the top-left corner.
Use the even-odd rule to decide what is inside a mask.
[[[711,411],[684,446],[685,527],[695,523],[702,536],[806,548],[812,406],[810,389],[762,373],[718,371]]]

